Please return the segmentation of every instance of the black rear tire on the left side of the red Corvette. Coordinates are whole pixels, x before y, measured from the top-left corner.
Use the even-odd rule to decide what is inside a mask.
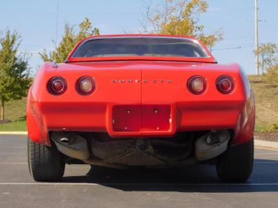
[[[65,172],[65,162],[54,146],[45,146],[28,139],[28,167],[38,182],[60,180]]]

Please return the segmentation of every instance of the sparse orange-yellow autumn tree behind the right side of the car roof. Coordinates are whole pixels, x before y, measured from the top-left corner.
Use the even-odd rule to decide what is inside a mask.
[[[222,31],[204,34],[204,26],[198,24],[198,17],[207,9],[205,0],[161,0],[156,8],[152,1],[145,2],[142,27],[145,33],[196,37],[211,47],[222,40]]]

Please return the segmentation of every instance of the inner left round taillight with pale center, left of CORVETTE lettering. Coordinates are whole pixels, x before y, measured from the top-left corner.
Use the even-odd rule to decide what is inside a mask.
[[[77,80],[76,90],[79,94],[87,96],[95,91],[95,80],[90,76],[83,76]]]

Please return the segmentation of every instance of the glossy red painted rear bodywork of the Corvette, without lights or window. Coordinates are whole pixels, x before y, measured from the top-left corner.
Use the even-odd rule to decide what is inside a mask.
[[[179,131],[233,129],[233,144],[253,137],[254,95],[238,64],[217,64],[212,55],[208,60],[179,61],[122,57],[75,62],[70,57],[73,62],[58,67],[46,62],[35,76],[27,102],[28,135],[33,141],[50,145],[51,130],[108,132],[111,137],[169,137]],[[234,79],[230,94],[222,94],[216,87],[216,80],[224,75]],[[55,76],[67,81],[67,91],[60,96],[47,89]],[[83,76],[95,80],[95,91],[88,96],[76,91],[76,82]],[[188,90],[193,76],[206,80],[202,94]]]

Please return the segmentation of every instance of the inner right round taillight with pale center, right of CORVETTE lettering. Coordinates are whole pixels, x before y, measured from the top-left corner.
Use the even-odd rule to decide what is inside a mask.
[[[193,76],[188,80],[187,87],[193,94],[202,94],[206,91],[206,80],[202,76]]]

